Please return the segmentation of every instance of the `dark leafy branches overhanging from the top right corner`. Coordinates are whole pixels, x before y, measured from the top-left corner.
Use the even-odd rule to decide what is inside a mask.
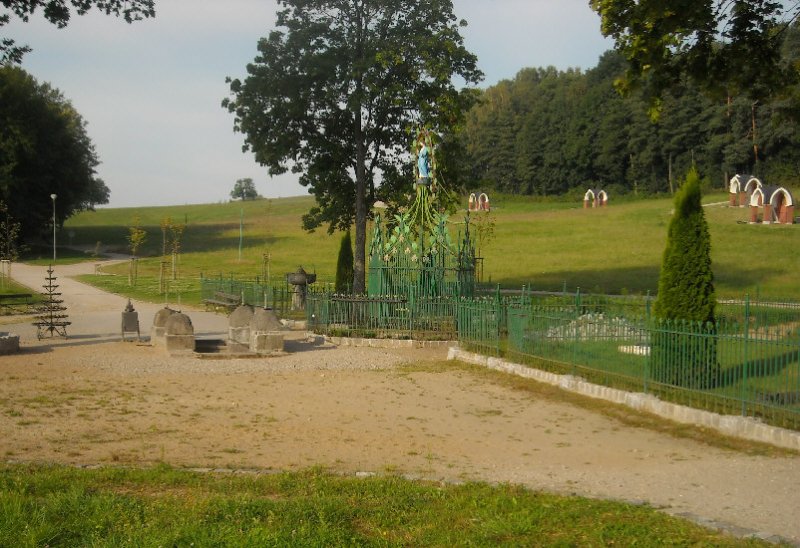
[[[708,92],[770,96],[794,81],[781,62],[797,2],[772,0],[590,0],[601,30],[629,62],[623,90],[640,87],[653,106],[685,78]]]

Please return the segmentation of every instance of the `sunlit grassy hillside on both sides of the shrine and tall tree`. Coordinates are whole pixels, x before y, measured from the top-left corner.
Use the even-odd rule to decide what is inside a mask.
[[[724,205],[727,196],[707,196],[712,257],[721,297],[745,293],[768,298],[800,298],[797,241],[800,226],[749,225],[746,208]],[[147,230],[140,255],[139,287],[146,298],[158,279],[162,261],[160,223],[166,217],[186,223],[179,282],[187,300],[200,274],[264,277],[273,282],[303,266],[322,282],[332,282],[341,234],[325,228],[307,233],[301,217],[311,197],[171,207],[99,209],[71,218],[59,241],[91,252],[128,253],[128,227],[139,217]],[[655,293],[661,255],[671,216],[670,198],[614,203],[582,209],[580,202],[544,202],[530,198],[492,198],[494,237],[481,246],[483,281],[518,288]],[[240,256],[240,219],[242,241]],[[451,217],[454,234],[463,230],[463,214]],[[269,254],[269,261],[265,255]],[[267,268],[268,267],[268,268]],[[268,271],[267,271],[268,270]],[[126,292],[126,265],[107,269],[111,289]],[[99,282],[98,282],[99,283]],[[199,297],[199,296],[198,296]],[[159,300],[157,294],[151,297]]]

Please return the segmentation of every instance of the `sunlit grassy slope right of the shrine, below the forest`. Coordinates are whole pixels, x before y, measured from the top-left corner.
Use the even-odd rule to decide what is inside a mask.
[[[727,200],[707,196],[706,204]],[[494,204],[493,204],[494,205]],[[584,210],[536,210],[497,203],[496,239],[486,246],[487,278],[504,286],[655,294],[672,199]],[[800,226],[749,225],[749,210],[709,205],[712,260],[720,296],[800,297]]]

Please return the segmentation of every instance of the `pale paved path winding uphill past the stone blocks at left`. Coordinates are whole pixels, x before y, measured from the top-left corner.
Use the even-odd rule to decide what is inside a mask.
[[[102,261],[99,264],[113,264],[114,260]],[[20,344],[33,345],[47,344],[74,344],[76,341],[102,341],[119,340],[122,328],[122,311],[128,299],[120,295],[107,293],[90,285],[81,283],[72,278],[80,274],[92,274],[98,263],[85,262],[72,265],[56,265],[53,276],[59,286],[58,292],[64,299],[67,307],[68,321],[72,322],[67,327],[68,338],[46,338],[39,341],[36,336],[36,327],[32,325],[29,316],[10,317],[10,321],[3,322],[0,327],[3,331],[11,331],[20,336]],[[11,265],[11,277],[30,287],[34,292],[43,292],[46,284],[47,266],[34,266],[29,264],[14,263]],[[139,328],[142,337],[150,336],[153,317],[156,312],[166,304],[175,310],[181,310],[192,320],[195,336],[214,337],[227,334],[228,318],[222,314],[206,312],[181,306],[178,303],[153,304],[141,301],[132,301],[139,313]]]

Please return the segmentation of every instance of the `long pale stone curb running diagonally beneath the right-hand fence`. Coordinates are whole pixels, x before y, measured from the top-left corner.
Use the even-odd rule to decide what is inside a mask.
[[[786,428],[778,428],[777,426],[770,426],[752,417],[720,415],[710,411],[694,409],[692,407],[686,407],[685,405],[661,401],[650,394],[626,392],[616,388],[608,388],[606,386],[586,382],[582,378],[573,375],[548,373],[547,371],[508,362],[500,358],[490,358],[488,356],[466,352],[457,347],[450,348],[447,353],[447,359],[481,365],[496,371],[533,379],[558,386],[569,392],[619,403],[636,409],[637,411],[652,413],[682,424],[693,424],[695,426],[711,428],[727,436],[769,443],[777,447],[800,451],[800,432],[795,432],[794,430]]]

